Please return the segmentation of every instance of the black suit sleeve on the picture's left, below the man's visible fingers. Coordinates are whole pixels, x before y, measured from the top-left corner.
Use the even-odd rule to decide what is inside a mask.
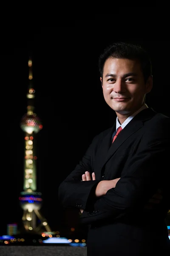
[[[78,209],[89,208],[91,201],[94,201],[94,188],[99,180],[82,181],[82,175],[88,171],[93,172],[93,152],[97,142],[97,136],[94,137],[91,145],[87,149],[84,157],[76,166],[73,172],[62,181],[58,189],[59,202],[64,207],[76,207]]]

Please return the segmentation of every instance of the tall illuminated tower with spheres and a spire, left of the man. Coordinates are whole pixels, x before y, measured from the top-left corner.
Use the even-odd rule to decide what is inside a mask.
[[[35,137],[42,129],[42,124],[34,112],[35,90],[32,79],[32,59],[28,60],[28,105],[27,113],[23,115],[20,127],[24,131],[25,148],[24,148],[24,180],[23,192],[20,193],[20,206],[23,209],[23,228],[26,233],[51,232],[47,220],[42,216],[40,209],[42,207],[42,194],[37,192],[37,170],[36,170],[36,151]]]

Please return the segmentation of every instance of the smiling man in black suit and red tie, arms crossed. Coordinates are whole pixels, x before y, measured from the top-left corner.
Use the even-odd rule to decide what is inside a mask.
[[[99,57],[99,71],[117,118],[62,181],[59,200],[79,208],[89,224],[88,256],[168,255],[170,118],[145,104],[153,86],[150,58],[140,46],[114,43]],[[147,209],[158,189],[163,199]]]

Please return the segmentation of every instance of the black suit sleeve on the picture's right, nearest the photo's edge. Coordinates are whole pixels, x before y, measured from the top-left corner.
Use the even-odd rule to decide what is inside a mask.
[[[89,215],[84,210],[80,217],[82,223],[92,224],[108,217],[120,218],[134,210],[143,209],[162,184],[168,188],[169,120],[166,120],[166,126],[158,124],[155,130],[144,133],[139,148],[125,163],[116,187],[94,202],[92,210],[95,214]]]

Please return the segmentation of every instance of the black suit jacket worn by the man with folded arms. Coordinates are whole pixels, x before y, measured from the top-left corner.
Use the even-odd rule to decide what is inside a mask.
[[[121,256],[127,250],[130,255],[147,255],[149,250],[170,250],[164,223],[170,209],[169,128],[169,117],[147,108],[111,144],[115,122],[94,137],[82,160],[60,184],[59,201],[65,207],[84,209],[80,220],[90,224],[88,255],[113,252]],[[86,170],[95,172],[96,180],[81,181]],[[105,196],[94,197],[99,181],[119,177],[115,188]],[[161,204],[145,209],[159,188],[164,195]]]

